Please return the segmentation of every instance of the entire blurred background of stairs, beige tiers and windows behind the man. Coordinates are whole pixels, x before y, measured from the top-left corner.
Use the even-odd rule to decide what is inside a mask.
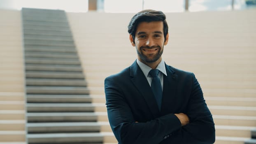
[[[195,73],[215,144],[256,144],[256,0],[0,0],[0,144],[116,144],[104,79],[137,58],[142,9],[169,25],[163,59]]]

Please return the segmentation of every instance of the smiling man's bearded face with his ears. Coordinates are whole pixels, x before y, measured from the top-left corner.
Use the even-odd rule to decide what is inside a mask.
[[[130,42],[136,47],[138,60],[142,63],[160,62],[163,53],[163,46],[168,43],[163,33],[163,22],[141,22],[137,26],[135,38],[130,35]]]

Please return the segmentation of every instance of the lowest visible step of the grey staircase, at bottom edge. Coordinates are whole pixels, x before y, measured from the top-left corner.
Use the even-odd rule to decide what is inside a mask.
[[[28,143],[31,144],[64,144],[64,143],[102,143],[100,133],[49,133],[28,134]]]

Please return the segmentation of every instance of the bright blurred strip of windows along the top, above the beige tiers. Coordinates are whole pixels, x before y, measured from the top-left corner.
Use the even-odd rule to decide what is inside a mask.
[[[66,12],[135,13],[142,9],[163,12],[229,11],[255,7],[254,0],[0,0],[2,9],[34,7],[63,9]]]

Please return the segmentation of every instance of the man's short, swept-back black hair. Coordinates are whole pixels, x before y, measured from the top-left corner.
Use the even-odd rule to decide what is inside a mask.
[[[153,9],[146,9],[138,12],[133,16],[128,25],[128,33],[132,35],[133,41],[135,39],[135,33],[137,26],[141,22],[152,22],[152,21],[163,21],[163,34],[166,39],[168,33],[168,24],[166,22],[166,16],[161,11],[156,11]]]

